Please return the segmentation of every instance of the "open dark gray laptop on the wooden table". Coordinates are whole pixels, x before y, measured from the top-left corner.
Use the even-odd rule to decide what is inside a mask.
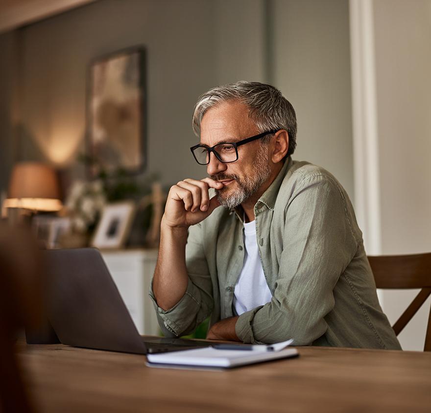
[[[140,336],[98,250],[46,250],[43,258],[47,317],[62,344],[137,354],[212,346]]]

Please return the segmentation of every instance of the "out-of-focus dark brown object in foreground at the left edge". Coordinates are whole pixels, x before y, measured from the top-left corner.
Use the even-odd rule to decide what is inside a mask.
[[[15,337],[41,322],[39,251],[29,229],[0,222],[0,412],[34,412],[24,388]]]

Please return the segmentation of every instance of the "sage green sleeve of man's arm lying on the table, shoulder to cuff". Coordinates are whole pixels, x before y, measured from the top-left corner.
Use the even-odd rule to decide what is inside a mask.
[[[346,202],[326,175],[304,178],[295,189],[285,208],[273,297],[241,314],[236,324],[244,343],[293,338],[296,345],[308,345],[326,332],[324,317],[334,308],[335,284],[358,248]]]

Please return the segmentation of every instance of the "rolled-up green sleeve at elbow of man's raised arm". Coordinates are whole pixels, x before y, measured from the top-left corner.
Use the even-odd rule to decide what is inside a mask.
[[[189,282],[184,296],[168,310],[157,305],[153,281],[149,296],[154,303],[157,319],[166,337],[179,337],[191,333],[212,312],[213,286],[202,245],[200,224],[189,229],[186,245],[186,267]],[[192,270],[192,271],[191,271]]]

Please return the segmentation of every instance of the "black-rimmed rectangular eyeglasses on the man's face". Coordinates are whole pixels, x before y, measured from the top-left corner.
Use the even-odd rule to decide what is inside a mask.
[[[217,143],[211,148],[206,145],[194,145],[190,148],[192,151],[193,157],[197,163],[200,165],[208,165],[210,163],[210,153],[213,152],[216,155],[216,158],[223,163],[230,163],[238,161],[238,146],[243,145],[244,143],[252,142],[253,140],[263,138],[269,134],[275,134],[278,132],[277,130],[263,132],[259,135],[252,136],[251,138],[245,138],[239,140],[238,142],[222,142]]]

